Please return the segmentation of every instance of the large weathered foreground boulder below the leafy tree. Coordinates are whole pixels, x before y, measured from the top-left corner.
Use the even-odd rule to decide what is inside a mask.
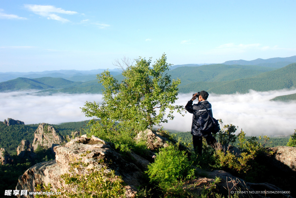
[[[61,174],[69,173],[70,162],[81,158],[81,162],[89,163],[85,169],[105,167],[114,170],[116,175],[121,176],[126,183],[127,197],[133,197],[136,193],[136,186],[140,186],[144,172],[142,169],[149,164],[149,161],[133,153],[131,162],[126,161],[121,154],[112,148],[112,143],[107,143],[97,137],[91,139],[86,136],[76,137],[63,146],[54,147],[56,160],[42,162],[29,168],[19,178],[16,189],[33,191],[37,184],[51,183],[53,190],[67,185],[60,183]],[[137,164],[137,165],[136,165]],[[81,174],[81,173],[80,173]]]

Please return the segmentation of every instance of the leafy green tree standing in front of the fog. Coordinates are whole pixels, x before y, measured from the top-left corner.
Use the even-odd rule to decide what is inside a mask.
[[[127,62],[126,62],[127,63]],[[165,54],[151,66],[151,58],[139,58],[135,65],[126,64],[123,69],[123,81],[118,81],[104,71],[97,75],[104,86],[103,102],[86,102],[82,111],[88,117],[99,118],[92,121],[92,133],[104,131],[113,133],[120,129],[138,132],[153,125],[173,119],[173,111],[181,113],[183,106],[173,105],[177,99],[180,79],[171,80],[166,73],[171,64],[166,62]],[[169,114],[165,117],[165,110]]]

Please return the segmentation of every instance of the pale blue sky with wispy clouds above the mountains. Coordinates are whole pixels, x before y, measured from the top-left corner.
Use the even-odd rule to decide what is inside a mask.
[[[0,72],[296,55],[296,1],[3,1]]]

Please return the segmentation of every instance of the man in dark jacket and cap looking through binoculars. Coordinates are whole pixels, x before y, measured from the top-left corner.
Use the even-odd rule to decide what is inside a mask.
[[[189,100],[185,106],[185,109],[193,114],[192,118],[192,126],[191,126],[191,134],[192,134],[192,142],[193,148],[195,152],[198,154],[202,154],[202,137],[204,137],[207,141],[207,144],[213,146],[216,143],[216,139],[211,134],[211,126],[213,125],[213,121],[209,115],[213,117],[212,113],[212,105],[207,101],[207,97],[209,94],[206,91],[201,91],[195,93],[192,96],[192,99]],[[193,104],[193,101],[197,99],[198,103]],[[207,113],[208,109],[209,113]]]

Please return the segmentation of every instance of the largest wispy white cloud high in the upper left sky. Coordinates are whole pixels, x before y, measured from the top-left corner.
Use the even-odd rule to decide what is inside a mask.
[[[61,21],[61,22],[70,22],[70,21],[68,19],[58,16],[55,13],[66,14],[66,15],[77,14],[77,12],[75,12],[75,11],[66,11],[66,10],[63,10],[62,8],[56,8],[56,7],[50,6],[50,5],[43,6],[43,5],[26,4],[25,8],[34,12],[37,15],[40,15],[42,17],[47,17],[47,19],[57,20],[57,21]]]

